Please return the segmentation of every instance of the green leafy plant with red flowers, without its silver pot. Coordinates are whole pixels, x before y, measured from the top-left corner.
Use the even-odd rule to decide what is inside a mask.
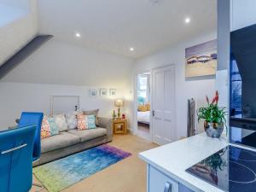
[[[214,125],[224,124],[226,126],[225,108],[218,107],[218,91],[216,91],[215,96],[212,99],[212,102],[209,102],[208,96],[207,98],[207,107],[201,107],[197,109],[197,117],[198,121],[204,120],[207,123],[212,123]],[[217,126],[216,125],[216,126]]]

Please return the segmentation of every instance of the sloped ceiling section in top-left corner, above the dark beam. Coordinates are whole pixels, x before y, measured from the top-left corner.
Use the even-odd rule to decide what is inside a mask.
[[[37,1],[0,0],[0,13],[1,66],[38,33]]]

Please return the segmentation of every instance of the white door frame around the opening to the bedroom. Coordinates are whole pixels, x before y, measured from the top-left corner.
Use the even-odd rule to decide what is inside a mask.
[[[139,71],[137,72],[135,75],[134,75],[134,79],[133,79],[133,87],[134,87],[134,105],[133,105],[133,119],[134,119],[134,122],[133,122],[133,125],[134,125],[134,131],[135,131],[135,134],[137,136],[138,135],[138,129],[137,129],[137,76],[140,75],[140,74],[143,74],[143,73],[149,73],[149,103],[150,103],[150,107],[151,107],[151,102],[152,102],[152,69],[149,69],[149,70],[142,70],[142,71]],[[150,125],[149,125],[149,141],[152,142],[153,141],[153,134],[152,134],[152,129],[151,129],[151,125],[152,125],[152,108],[150,108]]]

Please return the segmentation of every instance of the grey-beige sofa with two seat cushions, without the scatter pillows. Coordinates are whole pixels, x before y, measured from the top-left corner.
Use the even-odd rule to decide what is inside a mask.
[[[112,141],[111,119],[98,117],[96,129],[78,131],[67,130],[60,134],[44,138],[41,141],[41,157],[33,163],[39,166],[52,160],[57,160],[70,154],[75,154],[87,148],[92,148]]]

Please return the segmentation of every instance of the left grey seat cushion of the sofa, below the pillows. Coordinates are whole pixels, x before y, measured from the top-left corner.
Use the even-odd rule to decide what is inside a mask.
[[[78,136],[67,132],[61,132],[59,135],[44,138],[41,141],[41,152],[46,153],[59,148],[66,148],[79,142],[80,139]]]

